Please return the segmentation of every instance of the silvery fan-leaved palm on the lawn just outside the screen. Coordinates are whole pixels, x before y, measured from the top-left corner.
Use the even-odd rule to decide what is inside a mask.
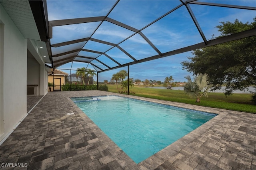
[[[196,102],[200,102],[200,98],[202,96],[208,97],[207,93],[212,87],[212,84],[209,82],[208,74],[200,73],[195,75],[193,81],[189,75],[187,75],[185,78],[188,80],[183,86],[185,94],[187,94],[192,99],[196,99]]]

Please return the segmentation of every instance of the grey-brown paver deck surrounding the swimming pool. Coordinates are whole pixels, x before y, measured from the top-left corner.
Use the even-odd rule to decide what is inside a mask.
[[[129,96],[218,114],[136,164],[69,98],[112,94],[47,93],[1,145],[1,169],[256,169],[256,114]]]

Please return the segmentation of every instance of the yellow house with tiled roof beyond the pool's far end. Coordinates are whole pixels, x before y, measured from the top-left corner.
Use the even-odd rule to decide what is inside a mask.
[[[68,76],[68,73],[54,69],[54,71],[48,72],[48,83],[54,83],[54,87],[51,87],[52,91],[60,91],[61,85],[65,84],[65,78]],[[48,91],[49,87],[48,87]]]

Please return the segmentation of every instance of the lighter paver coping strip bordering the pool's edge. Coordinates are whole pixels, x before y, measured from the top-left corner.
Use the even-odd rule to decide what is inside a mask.
[[[82,110],[78,108],[78,106],[70,99],[70,97],[67,97],[68,101],[72,104],[72,106],[76,109],[80,117],[84,119],[84,121],[87,123],[87,125],[93,130],[93,132],[96,134],[98,139],[102,142],[102,144],[109,150],[111,155],[114,157],[115,160],[122,166],[124,169],[155,169],[164,162],[166,162],[168,159],[172,158],[172,156],[178,154],[181,150],[186,150],[186,146],[190,144],[192,141],[194,141],[196,138],[198,138],[200,135],[202,135],[204,132],[206,132],[210,127],[215,125],[218,121],[220,121],[223,117],[228,115],[228,110],[224,109],[216,109],[216,108],[209,108],[209,107],[202,107],[202,106],[196,106],[196,105],[189,105],[184,103],[176,103],[176,102],[170,102],[170,101],[162,101],[158,99],[150,99],[145,97],[138,97],[138,96],[128,96],[118,93],[110,93],[107,92],[108,95],[116,95],[121,97],[128,97],[132,99],[139,99],[142,101],[149,101],[164,105],[170,105],[174,107],[182,107],[187,109],[192,109],[196,111],[202,111],[202,112],[208,112],[208,113],[214,113],[217,114],[214,118],[212,118],[210,121],[204,123],[200,127],[196,128],[192,132],[186,134],[176,142],[170,144],[166,148],[160,150],[156,154],[150,156],[146,160],[143,160],[142,162],[136,164],[127,154],[125,154],[121,148],[119,148],[96,124],[93,123],[93,121],[86,115]],[[97,96],[106,96],[104,95],[97,95]],[[82,97],[92,97],[92,96],[82,96]],[[95,96],[94,96],[95,97]],[[233,111],[234,112],[234,111]],[[188,169],[192,167],[187,167]]]

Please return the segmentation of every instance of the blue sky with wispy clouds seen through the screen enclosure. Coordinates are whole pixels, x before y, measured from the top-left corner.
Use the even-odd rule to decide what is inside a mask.
[[[255,0],[222,0],[207,2],[256,6]],[[105,16],[114,3],[114,0],[48,0],[48,19],[50,21]],[[178,4],[180,4],[180,1],[177,0],[121,0],[108,17],[140,30],[172,8],[178,6]],[[234,8],[192,4],[190,7],[194,11],[194,15],[196,16],[196,19],[198,20],[198,23],[200,24],[207,40],[209,40],[213,34],[214,36],[219,36],[219,32],[215,27],[220,25],[220,22],[233,22],[235,19],[242,22],[253,22],[253,18],[256,16],[255,11]],[[92,22],[54,27],[51,44],[90,37],[99,23],[100,22]],[[92,35],[92,38],[111,43],[119,43],[125,38],[131,36],[133,33],[134,32],[130,30],[104,21],[100,28]],[[161,51],[161,53],[203,41],[184,6],[162,18],[158,22],[148,26],[142,30],[142,33]],[[65,50],[70,51],[72,49],[76,49],[84,43],[85,42],[76,43],[69,45],[68,47],[63,46],[52,48],[52,53],[54,55],[56,53],[65,52]],[[148,43],[138,34],[129,38],[125,42],[120,43],[119,46],[136,59],[143,59],[157,54],[157,52],[152,49],[152,47],[148,45]],[[89,41],[86,43],[84,48],[105,52],[110,47],[111,46],[109,45]],[[120,61],[121,64],[132,61],[116,47],[107,51],[106,54],[113,59]],[[85,51],[80,52],[79,55],[95,57],[94,53]],[[165,77],[172,75],[174,81],[183,82],[186,80],[184,76],[188,75],[189,73],[186,70],[182,70],[182,65],[180,63],[187,60],[188,56],[192,56],[191,51],[140,64],[130,65],[130,78],[141,79],[142,81],[145,79],[164,81]],[[98,59],[110,66],[116,65],[116,63],[112,62],[105,56],[100,56]],[[95,62],[95,64],[98,63]],[[57,69],[70,69],[71,65],[72,69],[77,69],[79,67],[87,67],[94,70],[96,69],[87,63],[78,62],[67,63],[58,67]],[[102,68],[106,67],[102,65]],[[122,69],[127,70],[127,67],[99,73],[98,80],[110,81],[112,75]],[[70,71],[66,72],[70,73]],[[72,71],[72,73],[75,73],[75,71]],[[190,73],[190,75],[192,74]],[[96,80],[96,77],[94,77],[94,80]]]

